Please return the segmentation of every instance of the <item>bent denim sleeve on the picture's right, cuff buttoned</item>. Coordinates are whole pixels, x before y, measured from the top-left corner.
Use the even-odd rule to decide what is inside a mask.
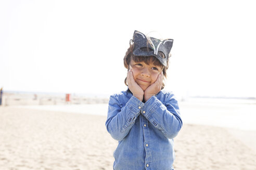
[[[142,112],[148,121],[167,138],[174,138],[181,130],[180,109],[173,94],[167,97],[165,105],[156,96],[150,97],[144,104]]]

